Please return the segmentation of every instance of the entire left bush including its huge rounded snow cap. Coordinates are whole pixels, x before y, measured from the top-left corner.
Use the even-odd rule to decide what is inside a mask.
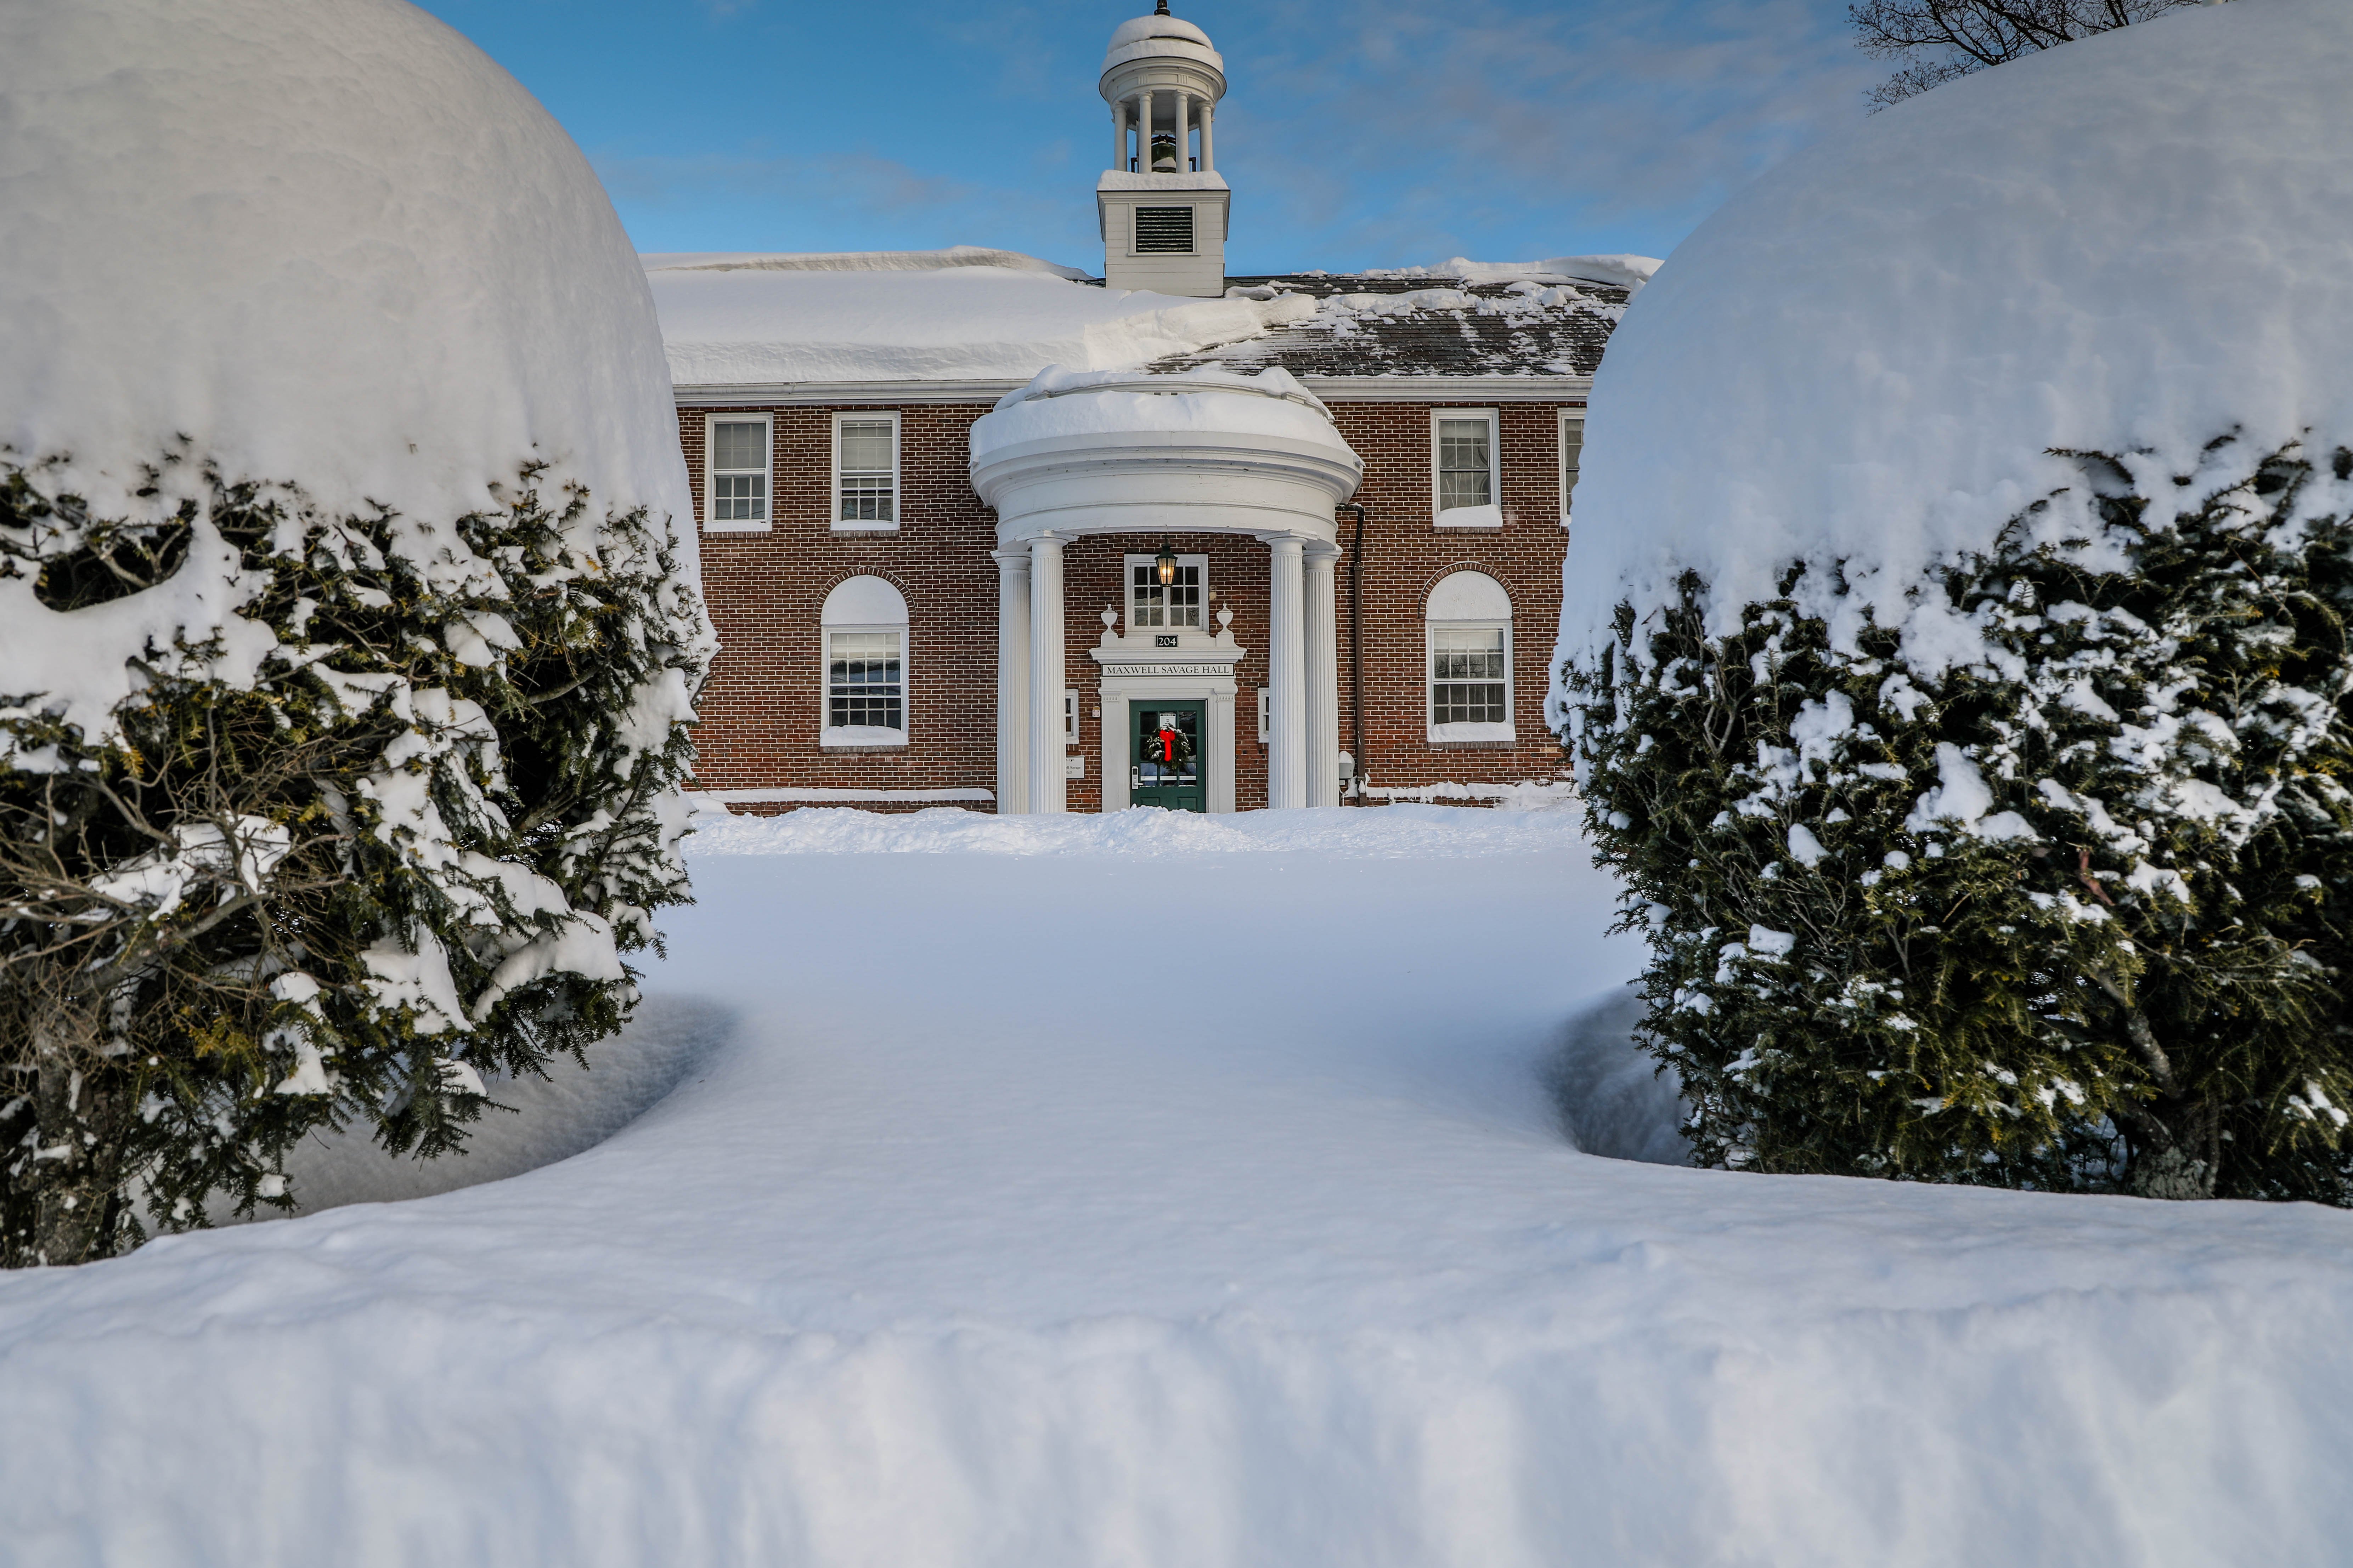
[[[0,1248],[71,1262],[616,1027],[711,632],[642,273],[456,33],[26,9],[0,99]]]

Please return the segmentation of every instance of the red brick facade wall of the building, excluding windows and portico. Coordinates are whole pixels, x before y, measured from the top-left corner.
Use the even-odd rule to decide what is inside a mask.
[[[849,404],[845,404],[849,407]],[[856,404],[868,407],[868,404]],[[1431,522],[1431,409],[1494,404],[1339,402],[1332,418],[1365,458],[1358,491],[1372,510],[1365,534],[1365,745],[1369,783],[1417,788],[1445,780],[1515,783],[1553,778],[1565,759],[1544,729],[1546,661],[1560,618],[1558,407],[1501,404],[1501,529],[1435,529]],[[833,407],[680,409],[680,440],[704,505],[708,414],[774,418],[772,529],[704,534],[704,595],[720,630],[720,656],[704,689],[696,773],[708,790],[755,788],[995,788],[995,607],[988,559],[995,520],[969,482],[967,433],[986,404],[899,409],[901,520],[896,534],[835,534]],[[1339,520],[1353,541],[1351,515]],[[1068,783],[1073,811],[1101,809],[1101,719],[1096,665],[1101,609],[1125,609],[1120,557],[1160,538],[1078,538],[1064,550],[1068,684],[1080,691],[1087,778]],[[1252,538],[1174,536],[1184,555],[1209,557],[1209,614],[1233,609],[1247,649],[1235,668],[1235,804],[1266,804],[1266,748],[1257,738],[1257,689],[1266,684],[1268,552]],[[1351,708],[1351,562],[1339,559],[1339,729],[1355,750]],[[1494,576],[1513,602],[1515,743],[1431,745],[1424,604],[1449,571]],[[908,604],[908,745],[875,752],[821,750],[824,717],[819,611],[849,576],[889,578]]]

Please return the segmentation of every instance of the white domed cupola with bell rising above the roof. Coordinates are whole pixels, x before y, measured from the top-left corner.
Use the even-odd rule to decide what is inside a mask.
[[[1101,94],[1111,103],[1111,167],[1094,186],[1104,282],[1219,299],[1231,193],[1214,127],[1226,59],[1160,0],[1113,31]]]

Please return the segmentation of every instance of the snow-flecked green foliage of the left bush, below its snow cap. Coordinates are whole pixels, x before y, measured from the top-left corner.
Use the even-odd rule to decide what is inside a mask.
[[[334,517],[167,461],[106,520],[0,465],[19,618],[139,675],[99,724],[0,668],[7,1262],[289,1206],[322,1126],[454,1150],[485,1074],[619,1027],[708,630],[666,520],[541,480]]]

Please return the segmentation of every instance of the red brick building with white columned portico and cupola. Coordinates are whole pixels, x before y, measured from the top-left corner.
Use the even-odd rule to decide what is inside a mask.
[[[1628,259],[1228,277],[1224,61],[1104,61],[1104,277],[649,256],[720,658],[699,783],[1195,811],[1558,790],[1586,390]]]

